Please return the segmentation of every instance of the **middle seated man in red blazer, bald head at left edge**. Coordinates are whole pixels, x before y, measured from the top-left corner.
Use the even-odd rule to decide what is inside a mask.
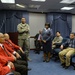
[[[18,61],[17,58],[6,49],[4,42],[5,42],[4,35],[2,33],[0,33],[0,55],[2,57],[5,57],[5,59],[7,59],[8,61],[13,62],[14,66],[15,66],[15,70],[17,72],[20,72],[22,75],[25,75],[26,72],[29,70],[24,65],[25,62],[21,61],[21,60]]]

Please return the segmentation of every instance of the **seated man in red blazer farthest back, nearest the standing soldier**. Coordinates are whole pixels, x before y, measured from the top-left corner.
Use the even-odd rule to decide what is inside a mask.
[[[24,51],[22,50],[21,47],[15,45],[10,39],[9,39],[9,35],[7,33],[4,34],[4,38],[5,38],[5,46],[6,48],[13,54],[16,55],[17,58],[21,58],[23,60],[26,60],[27,61],[27,58],[26,58],[26,54],[24,53]],[[19,54],[18,54],[18,53]]]

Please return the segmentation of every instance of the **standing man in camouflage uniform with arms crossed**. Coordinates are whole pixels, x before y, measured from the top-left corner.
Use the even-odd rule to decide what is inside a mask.
[[[27,56],[27,59],[30,61],[31,59],[29,58],[29,50],[30,50],[30,27],[26,23],[26,19],[22,18],[21,23],[18,24],[17,26],[17,31],[18,31],[18,45],[20,47],[25,48],[25,53]]]

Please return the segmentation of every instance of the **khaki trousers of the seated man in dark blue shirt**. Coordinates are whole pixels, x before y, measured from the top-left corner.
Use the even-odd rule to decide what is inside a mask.
[[[66,63],[66,66],[69,66],[70,58],[73,54],[75,54],[74,48],[66,48],[62,50],[61,52],[59,52],[59,58],[60,58],[61,63]],[[64,55],[66,56],[66,58],[64,58]]]

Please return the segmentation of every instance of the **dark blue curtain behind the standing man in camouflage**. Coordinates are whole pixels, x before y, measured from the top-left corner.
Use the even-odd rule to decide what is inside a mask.
[[[17,25],[25,17],[29,23],[29,14],[24,11],[0,11],[0,32],[17,32]]]

